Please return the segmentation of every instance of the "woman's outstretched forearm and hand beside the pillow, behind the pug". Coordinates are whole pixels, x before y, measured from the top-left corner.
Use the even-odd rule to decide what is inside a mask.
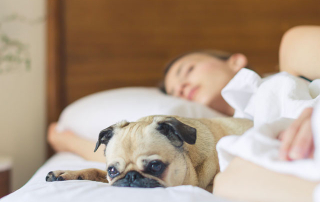
[[[71,131],[57,132],[56,123],[52,123],[48,129],[48,142],[57,152],[72,152],[86,160],[105,162],[103,147],[93,152],[96,143],[81,138]]]

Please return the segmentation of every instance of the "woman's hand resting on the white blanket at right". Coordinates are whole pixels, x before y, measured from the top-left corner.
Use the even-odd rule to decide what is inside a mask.
[[[297,120],[279,134],[279,155],[282,160],[299,160],[313,156],[312,111],[313,108],[306,108]]]

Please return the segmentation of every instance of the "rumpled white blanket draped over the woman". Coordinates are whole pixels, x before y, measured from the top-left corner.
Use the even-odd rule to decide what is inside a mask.
[[[240,137],[227,136],[218,142],[221,171],[238,156],[276,172],[320,180],[320,109],[315,110],[312,118],[315,158],[281,161],[277,140],[279,132],[306,107],[320,108],[319,92],[319,79],[310,83],[285,72],[261,79],[251,70],[240,70],[223,89],[222,96],[235,108],[234,117],[252,119],[254,127]]]

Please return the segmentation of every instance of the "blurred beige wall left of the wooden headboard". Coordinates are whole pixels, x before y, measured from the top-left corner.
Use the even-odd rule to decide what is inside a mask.
[[[45,160],[45,2],[0,0],[0,155],[12,190]]]

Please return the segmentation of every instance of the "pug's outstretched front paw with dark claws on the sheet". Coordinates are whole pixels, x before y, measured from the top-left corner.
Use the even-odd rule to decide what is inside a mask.
[[[65,180],[83,180],[83,178],[79,174],[77,174],[77,172],[69,170],[50,171],[46,176],[47,182]]]

